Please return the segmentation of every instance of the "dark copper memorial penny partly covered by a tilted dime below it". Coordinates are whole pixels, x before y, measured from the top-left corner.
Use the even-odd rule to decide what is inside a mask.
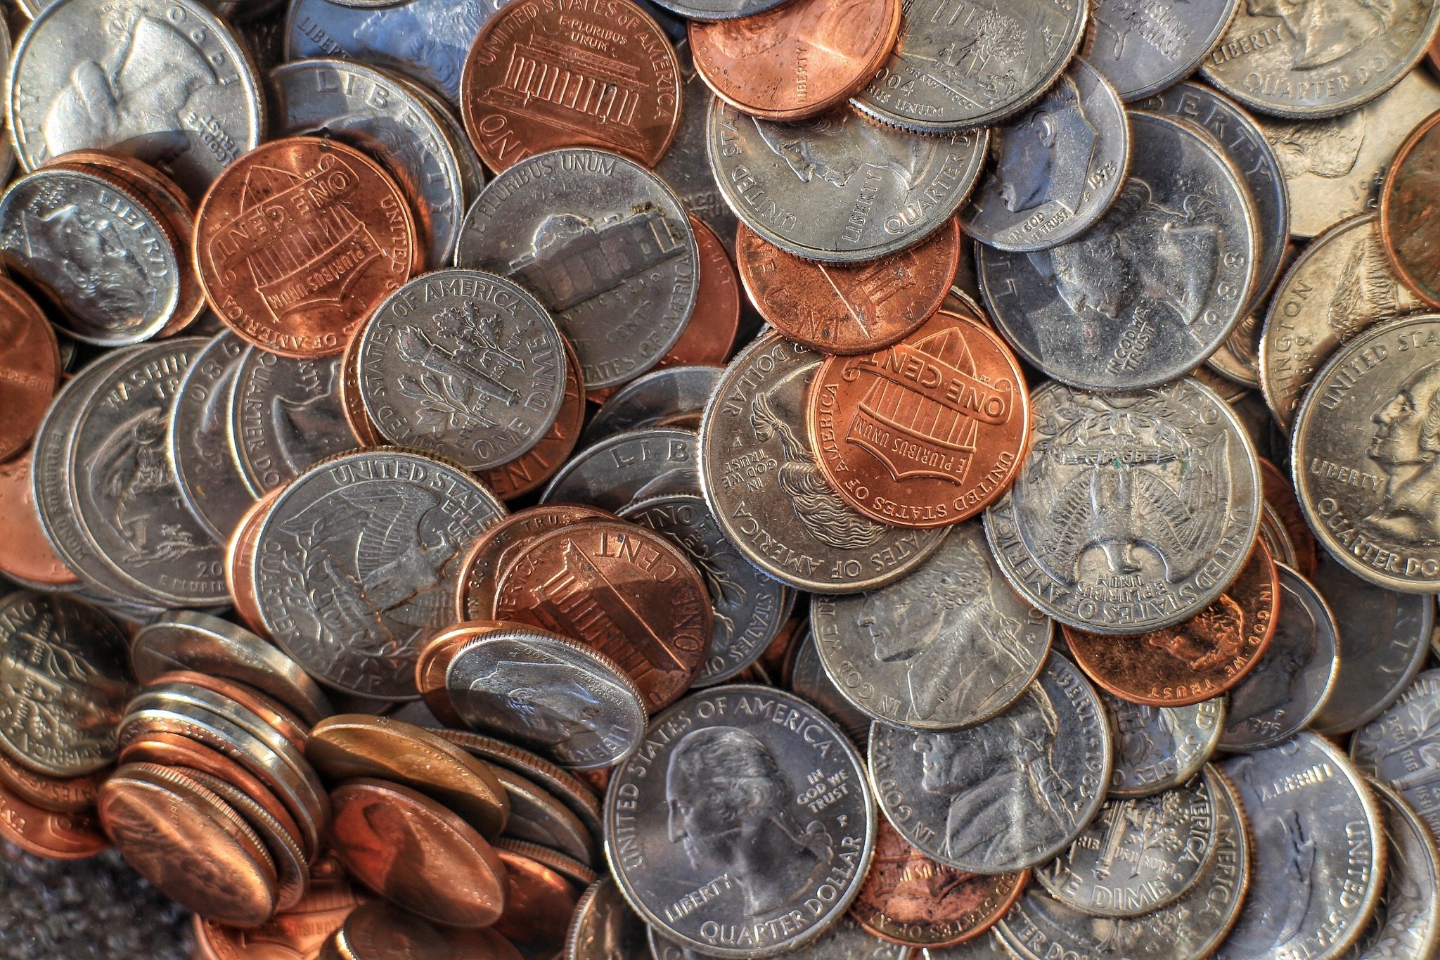
[[[579,522],[531,541],[501,571],[494,612],[605,653],[651,712],[700,675],[711,616],[710,592],[690,557],[624,521]]]

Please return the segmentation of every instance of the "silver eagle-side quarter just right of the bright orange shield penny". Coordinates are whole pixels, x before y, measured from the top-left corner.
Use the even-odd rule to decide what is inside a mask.
[[[1214,391],[1189,377],[1107,396],[1048,383],[1030,410],[1030,458],[985,512],[1021,596],[1083,630],[1143,633],[1236,579],[1260,527],[1260,466]]]

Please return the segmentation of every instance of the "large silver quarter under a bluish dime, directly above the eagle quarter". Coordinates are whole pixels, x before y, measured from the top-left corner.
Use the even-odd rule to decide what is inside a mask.
[[[1076,240],[976,252],[981,292],[1021,356],[1061,383],[1165,383],[1214,353],[1250,304],[1253,203],[1202,131],[1130,112],[1130,176]]]

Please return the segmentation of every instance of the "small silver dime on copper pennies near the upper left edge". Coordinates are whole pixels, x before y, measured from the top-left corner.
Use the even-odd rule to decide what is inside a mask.
[[[0,196],[6,268],[43,291],[59,308],[52,315],[88,344],[122,347],[164,330],[180,302],[183,255],[157,210],[92,173],[40,170]]]

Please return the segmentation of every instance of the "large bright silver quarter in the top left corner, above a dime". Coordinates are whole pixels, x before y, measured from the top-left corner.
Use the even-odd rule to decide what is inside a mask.
[[[190,0],[56,0],[20,37],[7,119],[20,166],[118,150],[192,197],[259,145],[265,101],[230,27]]]

